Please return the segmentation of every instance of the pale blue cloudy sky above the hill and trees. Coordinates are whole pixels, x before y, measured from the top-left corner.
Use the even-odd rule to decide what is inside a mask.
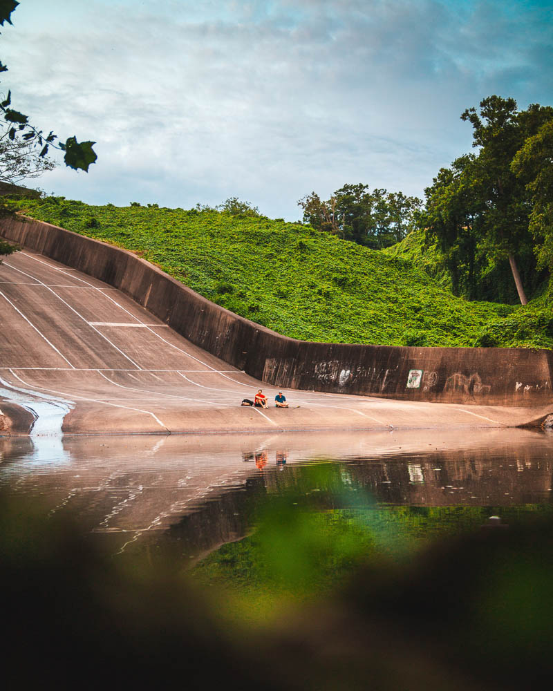
[[[91,204],[297,201],[363,182],[424,196],[491,94],[553,105],[553,0],[20,0],[0,91],[97,142],[31,186]],[[62,155],[59,155],[62,160]]]

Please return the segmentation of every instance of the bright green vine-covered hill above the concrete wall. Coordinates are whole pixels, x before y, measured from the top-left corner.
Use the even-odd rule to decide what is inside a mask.
[[[451,294],[443,274],[429,275],[420,258],[377,252],[308,226],[157,205],[95,207],[59,197],[17,206],[138,252],[208,299],[290,337],[553,348],[547,295],[527,307],[469,302]]]

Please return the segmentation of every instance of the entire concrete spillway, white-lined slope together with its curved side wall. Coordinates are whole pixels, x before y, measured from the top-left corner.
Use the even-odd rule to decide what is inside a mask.
[[[296,341],[111,245],[35,221],[1,234],[25,249],[0,265],[0,433],[28,433],[40,406],[63,433],[497,427],[553,410],[546,350]],[[257,388],[291,408],[241,408]]]

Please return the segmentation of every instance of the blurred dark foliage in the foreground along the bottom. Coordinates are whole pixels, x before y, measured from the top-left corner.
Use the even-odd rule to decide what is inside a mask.
[[[46,518],[39,503],[0,499],[8,688],[49,688],[63,678],[81,679],[83,688],[164,688],[175,679],[198,688],[232,679],[245,690],[284,691],[520,691],[529,679],[536,688],[550,683],[550,516],[463,529],[395,562],[375,558],[378,534],[363,538],[359,524],[330,515],[301,525],[292,504],[288,528],[281,506],[267,513],[273,524],[264,538],[274,540],[281,529],[265,550],[278,573],[250,571],[256,587],[271,591],[288,577],[293,591],[316,574],[321,556],[325,568],[336,565],[340,587],[308,607],[281,599],[278,620],[254,621],[246,612],[243,625],[229,625],[226,595],[214,586],[200,591],[178,557],[156,559],[155,549],[111,556],[78,524],[55,513]],[[436,513],[397,511],[395,527],[404,519],[407,534],[420,534]],[[468,513],[467,524],[476,525],[478,511]],[[315,533],[321,527],[332,544]],[[250,605],[255,600],[243,598],[243,607]]]

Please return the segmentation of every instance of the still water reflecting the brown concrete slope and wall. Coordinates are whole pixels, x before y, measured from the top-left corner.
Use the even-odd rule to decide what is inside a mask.
[[[553,435],[531,430],[0,438],[4,493],[77,517],[114,555],[170,545],[186,560],[244,536],[252,502],[270,496],[501,514],[547,507],[552,473]]]

